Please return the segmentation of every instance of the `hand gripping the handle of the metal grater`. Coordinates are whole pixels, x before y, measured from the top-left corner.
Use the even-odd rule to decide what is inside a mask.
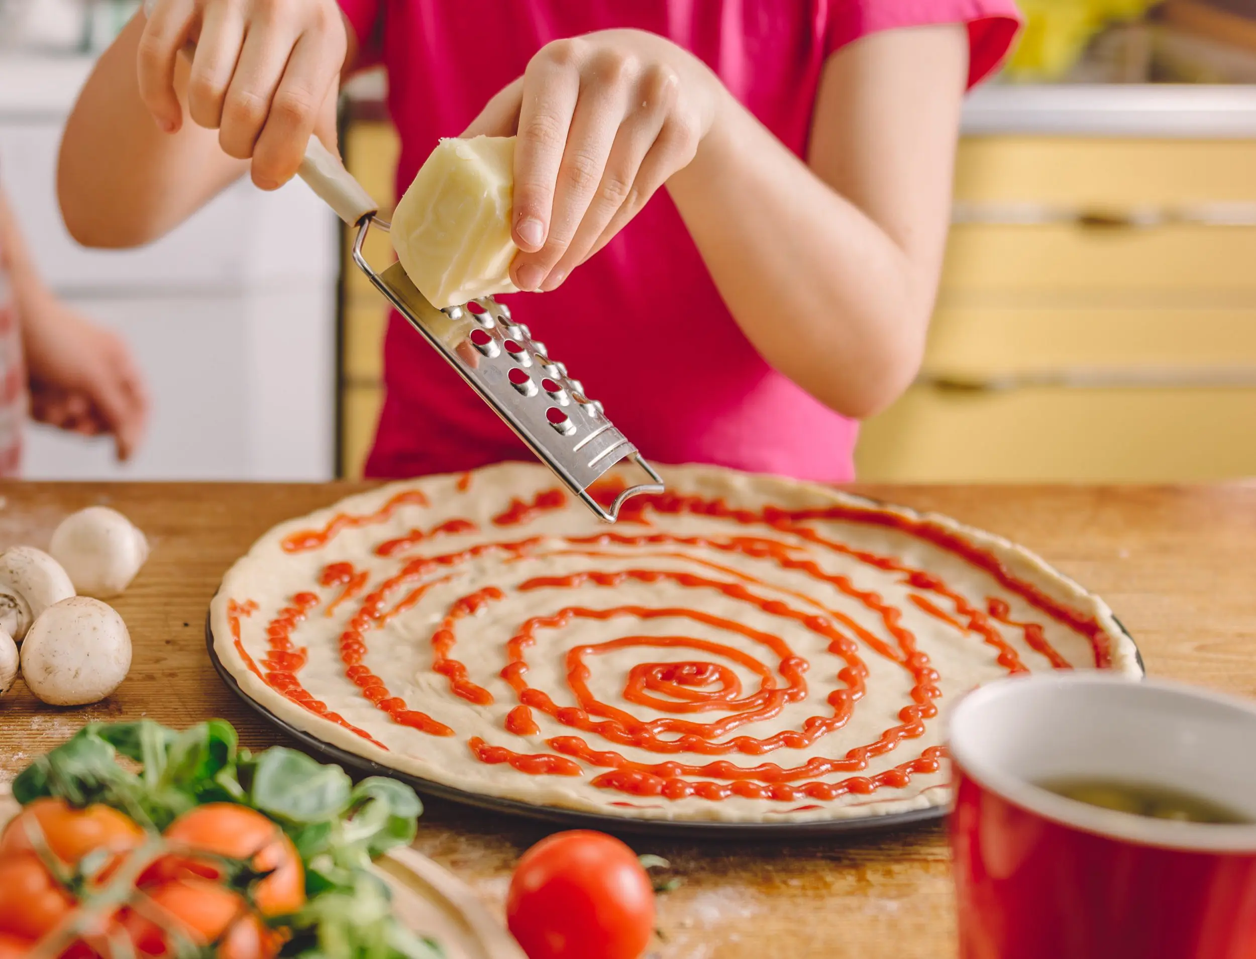
[[[167,133],[183,123],[175,75],[188,43],[187,113],[219,131],[227,156],[252,159],[259,187],[296,174],[311,133],[335,147],[347,46],[335,0],[156,0],[139,38],[139,94]]]

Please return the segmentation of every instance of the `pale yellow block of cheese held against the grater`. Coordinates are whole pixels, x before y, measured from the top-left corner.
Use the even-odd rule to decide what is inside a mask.
[[[393,211],[392,241],[411,282],[440,309],[515,292],[510,238],[514,137],[442,139]]]

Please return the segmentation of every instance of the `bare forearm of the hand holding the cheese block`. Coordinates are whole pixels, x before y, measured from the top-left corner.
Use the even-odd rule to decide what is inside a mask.
[[[747,339],[823,403],[865,417],[914,375],[936,274],[727,97],[668,192]]]

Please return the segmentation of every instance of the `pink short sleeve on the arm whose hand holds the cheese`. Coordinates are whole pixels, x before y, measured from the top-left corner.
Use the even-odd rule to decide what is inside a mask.
[[[342,0],[343,3],[344,0]],[[993,73],[1021,26],[1012,0],[829,0],[828,49],[903,26],[965,24],[968,28],[968,87]]]

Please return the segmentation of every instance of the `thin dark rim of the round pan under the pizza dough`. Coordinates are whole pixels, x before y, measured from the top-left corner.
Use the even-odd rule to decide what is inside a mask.
[[[1122,631],[1129,636],[1128,630],[1118,621]],[[869,832],[884,832],[889,830],[902,830],[922,822],[936,822],[946,817],[946,806],[931,806],[926,810],[909,810],[908,812],[891,812],[879,816],[863,816],[839,820],[819,820],[810,822],[703,822],[700,820],[634,820],[627,816],[604,816],[597,812],[579,812],[565,810],[561,806],[539,806],[519,800],[504,800],[496,796],[482,796],[465,790],[457,790],[440,782],[432,782],[418,776],[393,769],[372,759],[363,758],[347,749],[340,749],[319,739],[313,733],[299,729],[291,723],[280,719],[266,709],[252,697],[247,695],[231,675],[231,672],[219,659],[214,649],[214,631],[210,628],[210,618],[205,618],[205,641],[210,651],[210,662],[227,689],[235,693],[244,703],[256,712],[271,726],[281,729],[288,736],[299,742],[313,756],[322,757],[328,762],[338,763],[348,769],[353,769],[364,776],[389,776],[401,782],[408,783],[420,796],[431,796],[440,800],[448,800],[463,806],[500,812],[507,816],[517,816],[530,820],[551,822],[564,828],[590,828],[602,832],[619,832],[648,836],[671,836],[676,838],[736,838],[745,842],[766,838],[789,838],[791,836],[855,836]],[[1130,636],[1133,643],[1133,638]],[[1138,667],[1147,674],[1143,665],[1143,655],[1134,644],[1134,653],[1138,658]]]

